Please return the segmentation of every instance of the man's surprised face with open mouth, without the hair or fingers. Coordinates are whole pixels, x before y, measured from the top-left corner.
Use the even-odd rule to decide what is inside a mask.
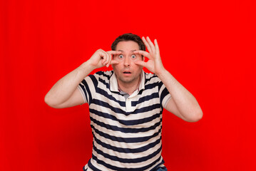
[[[143,66],[138,66],[134,62],[143,60],[143,57],[134,54],[133,51],[138,51],[139,46],[135,41],[121,41],[116,46],[116,51],[121,51],[120,55],[113,56],[113,60],[118,61],[118,64],[113,64],[113,70],[116,73],[118,83],[138,83],[140,73]]]

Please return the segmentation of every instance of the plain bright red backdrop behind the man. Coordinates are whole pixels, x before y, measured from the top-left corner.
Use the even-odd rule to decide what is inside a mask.
[[[169,170],[256,170],[254,0],[1,1],[0,170],[82,170],[88,105],[53,109],[58,79],[123,33],[157,38],[203,119],[163,113]],[[106,68],[103,68],[106,70]]]

